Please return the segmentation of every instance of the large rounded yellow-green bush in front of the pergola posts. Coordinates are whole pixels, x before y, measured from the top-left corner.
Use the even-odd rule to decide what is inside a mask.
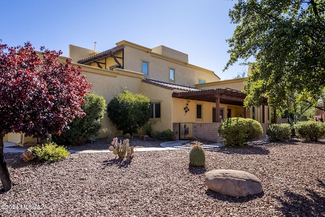
[[[228,118],[218,128],[224,146],[244,146],[263,136],[263,128],[257,121],[249,118]]]

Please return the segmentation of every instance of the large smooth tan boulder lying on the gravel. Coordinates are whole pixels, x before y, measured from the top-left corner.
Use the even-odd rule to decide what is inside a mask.
[[[262,183],[255,175],[232,169],[216,169],[206,173],[205,184],[214,192],[232,197],[259,194]]]

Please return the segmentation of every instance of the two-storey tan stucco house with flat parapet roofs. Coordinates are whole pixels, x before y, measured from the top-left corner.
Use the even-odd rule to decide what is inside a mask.
[[[93,85],[91,92],[102,95],[107,103],[123,88],[149,97],[153,129],[171,129],[175,139],[196,136],[220,141],[217,128],[229,117],[253,118],[264,131],[271,123],[267,103],[249,111],[243,107],[244,78],[220,81],[213,71],[190,64],[187,54],[165,46],[146,48],[121,41],[98,52],[70,45],[69,58],[82,67]],[[107,115],[103,127],[121,135]],[[7,139],[12,140],[11,136]],[[105,136],[104,132],[100,136]],[[24,143],[23,138],[19,139]]]

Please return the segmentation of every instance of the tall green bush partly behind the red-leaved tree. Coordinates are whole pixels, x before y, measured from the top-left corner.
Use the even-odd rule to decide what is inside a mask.
[[[60,135],[53,135],[52,139],[60,145],[77,145],[97,136],[102,127],[106,102],[103,96],[90,93],[84,97],[85,103],[81,105],[86,116],[76,118],[69,124],[69,130]]]

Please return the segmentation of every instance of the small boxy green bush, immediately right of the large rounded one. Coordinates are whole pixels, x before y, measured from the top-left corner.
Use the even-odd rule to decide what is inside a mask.
[[[267,132],[271,141],[284,141],[291,136],[290,124],[270,124]]]

